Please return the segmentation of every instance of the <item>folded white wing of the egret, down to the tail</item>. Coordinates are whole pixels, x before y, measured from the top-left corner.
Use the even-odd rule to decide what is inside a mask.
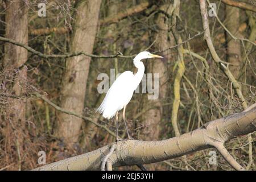
[[[112,118],[118,110],[128,104],[133,97],[134,75],[130,71],[123,72],[110,86],[108,93],[97,111],[106,118]]]

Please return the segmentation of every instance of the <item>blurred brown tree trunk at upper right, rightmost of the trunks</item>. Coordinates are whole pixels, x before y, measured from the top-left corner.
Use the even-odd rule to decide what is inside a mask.
[[[234,36],[240,37],[238,28],[240,26],[240,10],[237,7],[226,6],[226,27]],[[235,78],[241,73],[241,47],[240,41],[232,39],[228,36],[227,52],[228,62],[234,65],[230,65],[229,69],[233,73]]]

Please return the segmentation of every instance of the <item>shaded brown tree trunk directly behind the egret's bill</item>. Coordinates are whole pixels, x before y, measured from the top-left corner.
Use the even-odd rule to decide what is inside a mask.
[[[168,3],[166,5],[162,5],[160,9],[170,13],[171,7],[172,5]],[[170,27],[168,18],[166,15],[159,13],[156,16],[155,23],[158,26],[158,33],[155,36],[156,42],[154,49],[155,51],[167,49],[174,43],[168,39],[168,28]],[[150,61],[148,64],[148,73],[152,73],[152,78],[154,78],[154,73],[159,74],[159,85],[157,85],[159,89],[159,97],[156,100],[148,100],[147,96],[145,98],[145,107],[156,106],[154,109],[150,109],[143,114],[143,122],[145,126],[143,129],[143,138],[146,140],[157,140],[159,138],[160,121],[163,115],[163,107],[161,105],[162,100],[166,98],[167,94],[167,60],[170,59],[170,52],[171,51],[163,52],[163,59],[155,59],[154,61]],[[152,81],[152,86],[154,86],[154,81]]]

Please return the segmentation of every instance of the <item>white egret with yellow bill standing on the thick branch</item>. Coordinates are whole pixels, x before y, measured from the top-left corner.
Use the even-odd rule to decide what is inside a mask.
[[[145,67],[141,60],[153,57],[163,58],[162,56],[153,55],[147,51],[138,53],[133,59],[133,64],[138,68],[137,73],[134,75],[133,72],[125,71],[119,75],[113,85],[110,86],[108,93],[97,109],[97,111],[102,113],[104,118],[110,119],[115,115],[117,141],[120,140],[118,138],[118,111],[121,109],[123,109],[123,121],[125,122],[127,135],[128,138],[131,139],[125,121],[126,105],[130,102],[134,90],[137,88],[144,75]]]

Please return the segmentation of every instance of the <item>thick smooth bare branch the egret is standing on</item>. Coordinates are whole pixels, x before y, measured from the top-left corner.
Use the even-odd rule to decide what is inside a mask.
[[[122,140],[116,143],[109,156],[109,169],[118,166],[149,164],[177,158],[205,148],[216,147],[226,161],[235,169],[243,169],[224,148],[223,144],[237,136],[256,131],[256,106],[250,110],[206,123],[200,129],[160,141]],[[47,164],[34,170],[93,170],[100,169],[102,160],[109,154],[112,144],[98,150],[59,162]]]

